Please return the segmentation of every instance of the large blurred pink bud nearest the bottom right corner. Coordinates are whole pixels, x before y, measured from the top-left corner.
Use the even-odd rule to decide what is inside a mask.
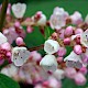
[[[75,82],[78,86],[82,86],[87,81],[86,78],[85,78],[85,76],[81,73],[76,74],[74,79],[75,79]]]

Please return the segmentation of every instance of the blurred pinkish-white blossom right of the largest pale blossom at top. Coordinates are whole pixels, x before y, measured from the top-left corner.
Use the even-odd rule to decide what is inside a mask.
[[[79,24],[82,22],[81,14],[78,11],[76,11],[73,15],[70,15],[70,19],[74,24]]]

